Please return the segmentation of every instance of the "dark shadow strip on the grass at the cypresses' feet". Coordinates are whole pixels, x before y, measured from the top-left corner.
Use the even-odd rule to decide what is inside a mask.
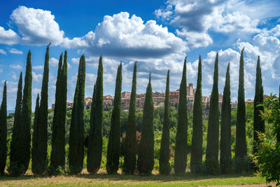
[[[127,174],[78,174],[78,175],[62,175],[63,177],[77,177],[83,179],[99,179],[108,181],[199,181],[207,179],[230,179],[238,178],[244,176],[255,176],[255,174],[221,174],[221,175],[199,175],[187,172],[186,174],[170,174],[170,175],[160,175],[151,174],[148,176],[141,175],[127,175]],[[52,177],[60,176],[49,176],[48,174],[35,176],[31,174],[26,174],[22,176],[9,176],[7,174],[0,176],[0,181],[18,181],[18,180],[28,180],[28,179],[48,179]]]

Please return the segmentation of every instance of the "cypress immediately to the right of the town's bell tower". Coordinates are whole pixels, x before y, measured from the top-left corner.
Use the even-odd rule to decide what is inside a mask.
[[[190,172],[198,172],[202,163],[202,60],[198,62],[197,90],[193,103],[193,137],[190,154]]]

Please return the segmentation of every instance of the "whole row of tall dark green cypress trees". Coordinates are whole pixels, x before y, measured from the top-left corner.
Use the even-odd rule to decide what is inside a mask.
[[[48,74],[49,74],[49,46],[45,52],[45,64],[41,88],[41,99],[36,99],[34,113],[33,133],[31,136],[31,52],[27,55],[25,73],[25,86],[22,94],[22,73],[18,82],[18,93],[13,120],[13,130],[10,140],[10,153],[8,173],[12,176],[25,174],[31,159],[31,170],[34,174],[50,175],[78,174],[82,171],[85,162],[87,172],[96,174],[102,164],[102,146],[104,130],[103,111],[103,64],[102,56],[99,58],[97,81],[94,84],[92,106],[90,109],[90,122],[88,132],[85,132],[84,98],[85,98],[85,56],[80,57],[76,90],[71,109],[69,128],[69,150],[66,152],[66,92],[67,92],[67,53],[59,57],[57,69],[57,82],[55,92],[55,110],[52,118],[52,136],[50,163],[48,164]],[[218,53],[214,65],[214,83],[211,92],[209,118],[207,122],[206,154],[203,151],[203,116],[202,116],[202,60],[200,57],[197,74],[197,91],[193,118],[188,118],[187,111],[187,75],[186,58],[183,63],[183,74],[180,85],[179,106],[176,118],[176,136],[174,145],[174,172],[185,173],[187,162],[190,162],[190,172],[200,174],[227,174],[230,172],[247,172],[252,169],[248,157],[246,142],[246,106],[244,99],[244,49],[241,50],[239,61],[239,89],[238,107],[236,115],[235,151],[232,153],[232,111],[230,106],[230,64],[225,78],[223,91],[223,105],[218,108]],[[137,62],[134,64],[132,78],[132,92],[127,124],[122,131],[121,121],[121,85],[122,63],[118,67],[116,77],[115,101],[111,112],[108,148],[106,152],[106,171],[114,174],[120,167],[120,156],[123,155],[123,172],[125,174],[151,174],[155,165],[155,126],[154,106],[151,85],[151,74],[146,89],[146,98],[143,109],[141,128],[137,129],[136,118],[136,90],[137,90]],[[165,107],[162,120],[162,137],[160,138],[159,169],[160,174],[169,174],[172,170],[170,155],[171,120],[169,109],[169,71],[167,72]],[[40,101],[39,101],[40,100]],[[253,142],[258,144],[255,132],[264,132],[265,123],[260,119],[263,107],[259,106],[263,100],[262,77],[260,58],[258,57],[255,82],[255,100],[253,115]],[[3,108],[3,109],[2,109]],[[189,121],[193,121],[189,133]],[[0,173],[4,173],[7,158],[7,115],[6,115],[6,83],[3,89],[3,99],[0,109]],[[141,131],[141,134],[137,133]],[[124,132],[124,133],[121,133]],[[220,134],[221,132],[221,134]],[[87,136],[85,136],[87,134]],[[121,140],[121,137],[122,141]],[[191,142],[188,142],[191,138]],[[220,140],[220,141],[219,141]],[[189,146],[188,146],[189,145]],[[190,151],[190,160],[188,152]],[[67,153],[67,155],[66,155]],[[220,153],[220,156],[219,156]],[[30,157],[31,155],[31,157]],[[86,155],[86,161],[85,161]],[[203,159],[205,156],[205,160]]]

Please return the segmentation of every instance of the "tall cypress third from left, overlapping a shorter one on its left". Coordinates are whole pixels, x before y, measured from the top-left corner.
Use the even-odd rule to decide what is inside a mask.
[[[23,89],[22,109],[20,122],[18,123],[18,132],[15,148],[15,157],[10,160],[10,174],[25,174],[28,169],[30,160],[30,125],[31,125],[31,91],[32,91],[32,74],[31,74],[31,52],[27,55],[27,65],[25,70],[25,88]]]

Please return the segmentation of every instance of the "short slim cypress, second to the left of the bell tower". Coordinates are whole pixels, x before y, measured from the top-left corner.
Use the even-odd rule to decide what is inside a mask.
[[[169,174],[169,70],[167,71],[167,85],[165,88],[165,116],[162,125],[162,140],[160,141],[160,174]]]

